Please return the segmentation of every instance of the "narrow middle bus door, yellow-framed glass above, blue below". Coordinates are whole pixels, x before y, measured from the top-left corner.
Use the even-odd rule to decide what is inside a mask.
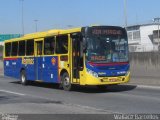
[[[43,70],[43,39],[35,40],[35,76],[36,80],[42,79],[42,70]]]

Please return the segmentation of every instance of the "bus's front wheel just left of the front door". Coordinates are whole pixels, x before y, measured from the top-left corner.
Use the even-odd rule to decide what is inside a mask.
[[[61,76],[61,84],[62,84],[62,88],[65,91],[71,91],[72,90],[72,84],[69,78],[69,75],[67,72],[63,73]]]

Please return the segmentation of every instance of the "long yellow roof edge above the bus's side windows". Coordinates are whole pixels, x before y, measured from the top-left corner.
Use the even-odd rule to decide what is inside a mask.
[[[54,35],[61,35],[61,34],[80,32],[81,28],[82,27],[71,28],[71,29],[52,29],[52,30],[43,31],[43,32],[26,34],[26,35],[24,35],[24,36],[22,36],[20,38],[14,38],[14,39],[5,40],[5,42],[19,41],[19,40],[26,40],[26,39],[36,39],[36,38],[49,37],[49,36],[54,36]]]

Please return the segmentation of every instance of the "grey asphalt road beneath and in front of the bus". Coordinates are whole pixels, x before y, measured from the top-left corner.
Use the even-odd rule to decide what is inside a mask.
[[[0,113],[20,114],[158,114],[160,89],[136,85],[110,86],[106,91],[79,87],[63,91],[56,85],[0,77]]]

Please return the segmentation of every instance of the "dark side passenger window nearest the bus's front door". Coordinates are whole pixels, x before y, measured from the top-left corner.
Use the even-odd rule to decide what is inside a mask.
[[[68,53],[68,35],[58,36],[56,39],[56,53]]]

